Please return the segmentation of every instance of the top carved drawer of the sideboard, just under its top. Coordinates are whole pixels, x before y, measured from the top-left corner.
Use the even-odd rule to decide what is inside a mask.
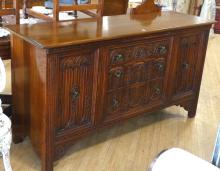
[[[152,57],[166,57],[169,52],[170,39],[133,43],[110,49],[110,65],[124,64],[131,60]]]

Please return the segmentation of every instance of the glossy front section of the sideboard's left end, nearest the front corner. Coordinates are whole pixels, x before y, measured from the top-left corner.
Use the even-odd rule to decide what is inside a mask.
[[[27,46],[29,55],[30,138],[37,153],[45,153],[46,128],[46,53],[43,49]]]

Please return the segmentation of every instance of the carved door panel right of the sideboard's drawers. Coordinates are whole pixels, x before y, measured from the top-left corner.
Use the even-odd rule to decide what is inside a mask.
[[[198,60],[198,35],[185,36],[180,39],[175,79],[175,94],[181,95],[193,90],[196,63]]]

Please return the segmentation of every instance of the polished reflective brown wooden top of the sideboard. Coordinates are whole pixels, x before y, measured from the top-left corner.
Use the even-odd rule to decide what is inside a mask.
[[[134,35],[171,31],[210,25],[214,21],[204,20],[175,12],[151,13],[145,15],[118,15],[87,19],[13,25],[6,28],[13,34],[40,48],[55,48],[68,45],[112,40]]]

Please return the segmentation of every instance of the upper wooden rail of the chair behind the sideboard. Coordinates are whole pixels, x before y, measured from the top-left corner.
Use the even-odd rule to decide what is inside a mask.
[[[83,5],[71,5],[71,6],[60,6],[59,11],[83,11],[83,10],[92,10],[98,9],[98,4],[83,4]]]

